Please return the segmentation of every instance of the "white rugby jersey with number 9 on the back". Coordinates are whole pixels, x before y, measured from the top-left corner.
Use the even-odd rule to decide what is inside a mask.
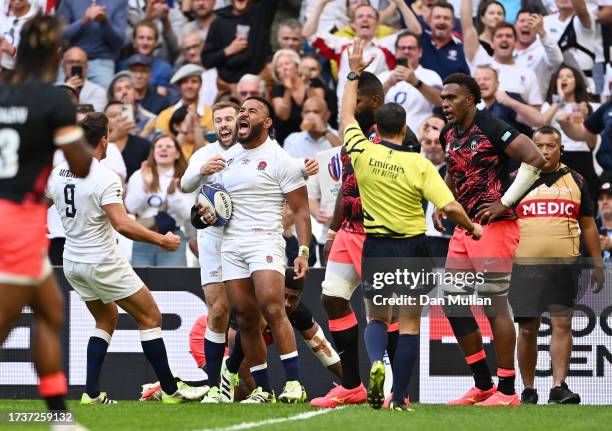
[[[64,258],[100,263],[118,253],[115,231],[102,209],[122,204],[119,176],[93,159],[87,178],[77,178],[62,162],[53,169],[45,194],[52,199],[66,233]]]

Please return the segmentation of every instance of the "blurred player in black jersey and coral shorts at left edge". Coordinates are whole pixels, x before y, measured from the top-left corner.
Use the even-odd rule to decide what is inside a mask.
[[[0,86],[0,345],[29,305],[34,311],[33,361],[50,410],[66,410],[59,332],[63,303],[47,258],[47,206],[42,202],[55,147],[84,177],[91,154],[76,126],[76,110],[51,83],[62,29],[52,17],[26,23],[15,70]],[[66,195],[66,199],[70,197]]]

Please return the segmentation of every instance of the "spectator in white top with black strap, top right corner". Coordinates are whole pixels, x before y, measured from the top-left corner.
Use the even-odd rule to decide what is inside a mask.
[[[559,44],[565,63],[591,77],[595,62],[595,17],[585,0],[556,0],[555,3],[558,12],[544,17],[544,27]]]

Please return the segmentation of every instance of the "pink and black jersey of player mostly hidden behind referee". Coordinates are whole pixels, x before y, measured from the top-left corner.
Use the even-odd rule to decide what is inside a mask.
[[[368,131],[368,139],[370,142],[378,144],[380,137],[376,133],[376,127],[372,126]],[[361,207],[361,196],[359,195],[359,186],[357,185],[357,177],[351,164],[351,159],[346,152],[344,146],[340,151],[340,161],[342,162],[342,187],[340,193],[342,196],[342,206],[344,208],[341,228],[347,232],[365,233],[363,228],[363,208]]]

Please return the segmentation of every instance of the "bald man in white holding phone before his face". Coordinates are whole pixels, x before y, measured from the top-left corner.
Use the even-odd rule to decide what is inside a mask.
[[[62,58],[62,70],[66,75],[66,84],[72,85],[79,92],[79,102],[93,105],[97,112],[106,106],[104,88],[87,79],[87,53],[78,46],[68,49]]]

